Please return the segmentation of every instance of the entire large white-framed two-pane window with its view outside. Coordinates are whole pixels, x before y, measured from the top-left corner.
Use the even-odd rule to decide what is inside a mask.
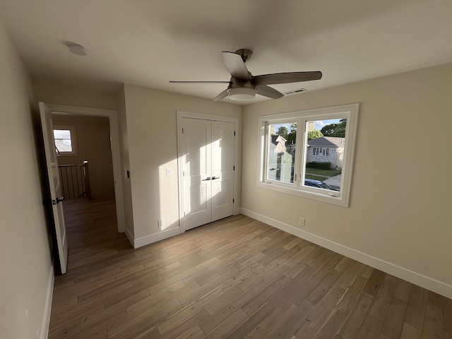
[[[358,108],[260,117],[258,186],[348,206]]]

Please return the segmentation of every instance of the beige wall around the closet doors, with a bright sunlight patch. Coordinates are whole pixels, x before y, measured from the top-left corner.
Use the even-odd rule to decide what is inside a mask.
[[[158,239],[157,220],[165,230],[179,226],[177,111],[234,117],[241,125],[242,107],[134,85],[124,89],[135,239]]]

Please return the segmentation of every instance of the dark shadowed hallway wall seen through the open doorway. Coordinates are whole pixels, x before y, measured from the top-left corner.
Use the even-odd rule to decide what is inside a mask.
[[[81,165],[88,160],[91,195],[93,198],[114,196],[112,148],[108,117],[59,116],[52,119],[54,126],[74,126],[77,155],[61,155],[59,165]]]

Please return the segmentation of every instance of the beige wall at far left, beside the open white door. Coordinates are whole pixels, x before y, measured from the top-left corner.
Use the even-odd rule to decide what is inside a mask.
[[[2,338],[44,338],[53,270],[32,119],[36,107],[28,72],[1,23],[0,74],[0,332]]]

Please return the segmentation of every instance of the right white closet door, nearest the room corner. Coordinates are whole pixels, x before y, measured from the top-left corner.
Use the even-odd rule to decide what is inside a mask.
[[[234,214],[234,124],[212,121],[212,221]]]

